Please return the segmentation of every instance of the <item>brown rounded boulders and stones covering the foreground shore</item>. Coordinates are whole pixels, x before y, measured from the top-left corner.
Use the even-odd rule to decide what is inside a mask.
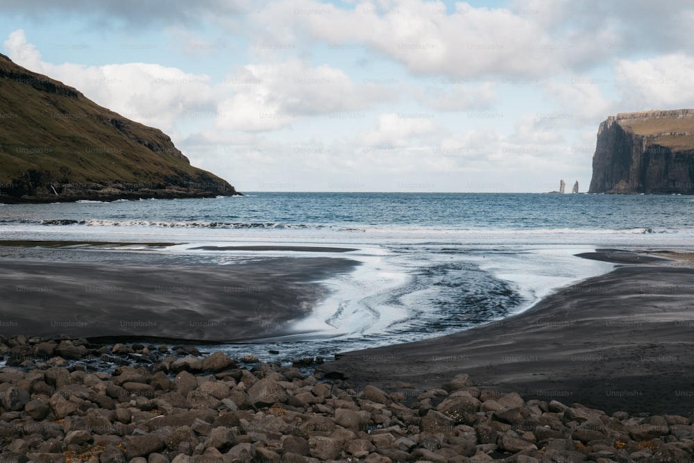
[[[192,346],[0,338],[1,462],[691,462],[692,416],[389,387]],[[105,365],[111,369],[103,370]]]

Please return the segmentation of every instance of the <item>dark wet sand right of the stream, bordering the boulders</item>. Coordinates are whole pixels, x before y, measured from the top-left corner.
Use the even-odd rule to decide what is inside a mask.
[[[627,254],[608,257],[613,251],[586,257],[634,262]],[[623,266],[503,321],[344,353],[321,370],[405,394],[412,392],[398,381],[428,389],[468,373],[481,388],[526,399],[687,415],[694,410],[693,301],[694,269]]]

